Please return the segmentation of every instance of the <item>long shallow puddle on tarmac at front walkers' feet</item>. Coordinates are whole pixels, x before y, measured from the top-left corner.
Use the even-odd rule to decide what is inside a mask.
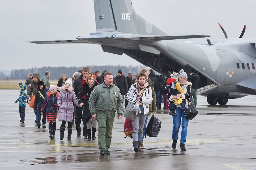
[[[142,152],[135,153],[131,150],[116,150],[110,151],[110,155],[99,155],[98,151],[86,154],[65,155],[47,158],[35,158],[30,160],[22,160],[22,164],[56,164],[56,163],[72,163],[72,162],[111,162],[129,159],[150,159],[161,156],[176,156],[185,155],[185,152],[180,150],[162,148],[149,148]]]

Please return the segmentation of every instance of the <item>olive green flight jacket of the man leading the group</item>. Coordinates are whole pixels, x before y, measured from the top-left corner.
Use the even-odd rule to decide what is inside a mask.
[[[105,83],[97,85],[91,92],[89,108],[92,115],[98,111],[111,114],[115,113],[117,109],[118,116],[122,116],[123,98],[119,88],[114,84],[110,88]]]

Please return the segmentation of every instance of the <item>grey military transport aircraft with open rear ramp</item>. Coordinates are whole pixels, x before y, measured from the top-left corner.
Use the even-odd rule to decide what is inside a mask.
[[[180,69],[197,70],[202,87],[198,93],[207,96],[210,105],[224,105],[228,99],[256,95],[256,38],[241,38],[241,34],[240,38],[219,42],[182,42],[178,39],[209,35],[168,35],[136,14],[131,0],[94,0],[94,10],[96,33],[76,40],[32,43],[99,44],[105,52],[124,53],[164,75]]]

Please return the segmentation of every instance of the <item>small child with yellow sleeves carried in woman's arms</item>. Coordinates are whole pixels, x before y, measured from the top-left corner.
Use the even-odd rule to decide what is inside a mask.
[[[171,95],[177,95],[177,94],[183,93],[181,85],[180,85],[180,83],[178,83],[178,78],[179,78],[179,74],[177,72],[172,72],[171,78],[167,79],[166,86],[169,87],[168,88],[168,97],[170,97]],[[168,98],[168,100],[170,100],[170,99]],[[183,100],[181,103],[181,109],[183,109],[183,110],[187,109],[185,107],[185,104],[186,104],[186,100]],[[170,101],[169,114],[172,116],[177,116],[177,114],[175,113],[175,109],[176,109],[176,105],[174,104],[173,101]]]

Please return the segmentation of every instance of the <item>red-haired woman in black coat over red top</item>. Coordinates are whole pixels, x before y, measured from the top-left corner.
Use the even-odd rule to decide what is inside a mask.
[[[84,111],[82,121],[86,122],[88,141],[91,141],[91,129],[92,129],[92,140],[95,140],[95,132],[97,127],[97,120],[92,119],[90,109],[89,109],[89,98],[93,88],[98,85],[93,78],[93,75],[88,74],[86,78],[86,83],[83,84],[83,88],[78,95],[78,104],[84,103]],[[82,97],[86,95],[86,99]],[[92,122],[92,123],[91,123]]]

